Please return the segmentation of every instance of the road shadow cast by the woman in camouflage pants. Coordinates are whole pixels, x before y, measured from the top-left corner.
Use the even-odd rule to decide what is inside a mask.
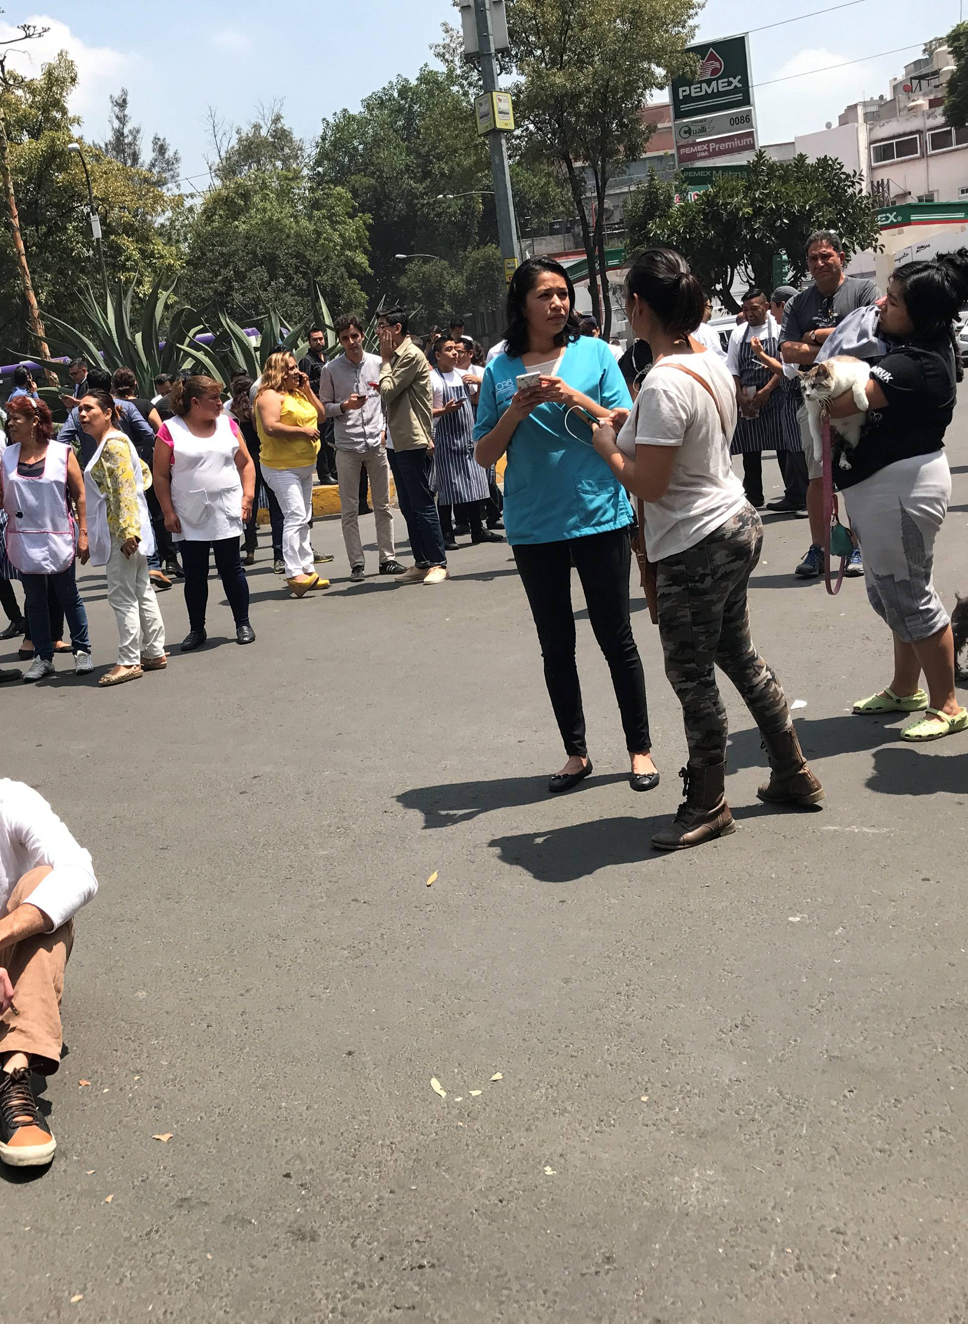
[[[761,818],[776,813],[767,805],[746,805],[732,810],[736,822]],[[649,818],[596,818],[585,824],[568,824],[543,833],[514,833],[495,837],[494,847],[505,865],[512,865],[531,874],[539,883],[576,883],[591,878],[600,869],[628,865],[652,865],[667,859],[667,851],[653,850],[650,841],[657,829],[669,824],[673,814],[666,810]],[[703,851],[720,849],[708,842]],[[726,838],[723,850],[734,846]],[[673,853],[678,854],[678,853]]]

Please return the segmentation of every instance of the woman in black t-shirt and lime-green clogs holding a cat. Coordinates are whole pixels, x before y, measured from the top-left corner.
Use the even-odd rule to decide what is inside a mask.
[[[854,712],[924,712],[903,740],[968,730],[968,710],[955,698],[951,618],[931,577],[951,498],[943,438],[959,372],[953,319],[965,299],[968,249],[895,270],[881,301],[878,334],[887,352],[870,369],[861,437],[846,453],[850,467],[833,466],[863,548],[867,598],[894,634],[891,683],[858,700]],[[832,400],[832,420],[851,414],[850,392]]]

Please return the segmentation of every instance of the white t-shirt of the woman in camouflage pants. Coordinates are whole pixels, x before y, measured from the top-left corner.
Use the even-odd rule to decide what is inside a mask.
[[[681,363],[708,381],[708,392],[669,364]],[[720,413],[728,436],[723,433]],[[669,487],[645,503],[645,547],[650,561],[678,556],[712,534],[746,502],[732,471],[730,442],[736,429],[736,392],[722,359],[712,354],[671,354],[642,383],[618,449],[634,457],[636,446],[678,446]]]

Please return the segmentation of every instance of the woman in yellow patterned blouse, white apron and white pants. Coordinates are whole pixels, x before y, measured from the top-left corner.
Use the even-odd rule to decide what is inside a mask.
[[[77,412],[81,426],[97,444],[83,471],[90,555],[94,565],[105,567],[107,602],[119,638],[118,662],[98,685],[122,685],[144,671],[160,671],[167,662],[164,622],[148,573],[155,535],[142,461],[117,425],[114,400],[106,391],[89,391]]]

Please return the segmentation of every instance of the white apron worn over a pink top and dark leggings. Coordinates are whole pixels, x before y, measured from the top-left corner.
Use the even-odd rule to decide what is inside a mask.
[[[181,522],[175,542],[216,543],[242,536],[242,479],[236,469],[238,441],[226,414],[212,437],[193,437],[179,417],[167,420],[175,442],[171,503]]]

